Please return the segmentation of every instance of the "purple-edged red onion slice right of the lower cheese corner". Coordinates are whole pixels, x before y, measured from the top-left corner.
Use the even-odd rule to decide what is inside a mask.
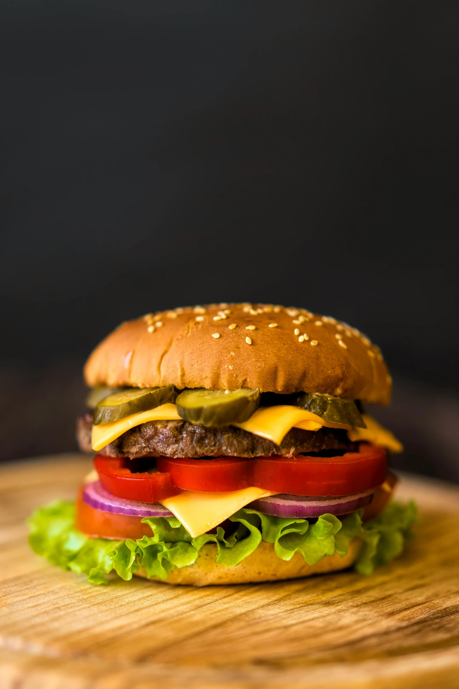
[[[344,497],[310,497],[308,495],[271,495],[260,497],[246,505],[250,509],[273,517],[320,517],[323,514],[345,515],[370,504],[374,489]]]

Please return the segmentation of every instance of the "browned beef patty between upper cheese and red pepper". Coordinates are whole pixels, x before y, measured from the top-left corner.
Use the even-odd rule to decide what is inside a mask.
[[[92,452],[92,414],[78,418],[76,438],[83,452]],[[148,421],[126,431],[100,450],[107,457],[289,457],[321,450],[352,451],[356,445],[342,429],[292,429],[276,445],[236,426],[209,428],[187,421]]]

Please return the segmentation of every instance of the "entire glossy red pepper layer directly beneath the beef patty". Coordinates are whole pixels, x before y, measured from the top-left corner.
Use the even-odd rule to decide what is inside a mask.
[[[387,475],[387,451],[361,443],[358,452],[336,457],[219,457],[209,460],[158,457],[156,473],[132,472],[131,460],[98,455],[100,483],[116,497],[159,502],[180,489],[221,493],[255,486],[289,495],[352,495],[380,486]]]

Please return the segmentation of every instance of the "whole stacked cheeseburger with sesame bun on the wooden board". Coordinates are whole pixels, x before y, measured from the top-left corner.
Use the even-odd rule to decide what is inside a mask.
[[[403,448],[365,404],[392,381],[367,336],[306,309],[178,308],[123,322],[84,369],[94,471],[30,519],[36,553],[94,584],[370,574],[400,555]],[[114,574],[116,573],[116,574]]]

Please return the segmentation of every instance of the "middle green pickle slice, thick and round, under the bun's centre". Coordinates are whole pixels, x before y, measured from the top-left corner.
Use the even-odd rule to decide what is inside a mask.
[[[242,424],[259,405],[259,390],[184,390],[176,400],[177,411],[185,421],[203,426]]]

